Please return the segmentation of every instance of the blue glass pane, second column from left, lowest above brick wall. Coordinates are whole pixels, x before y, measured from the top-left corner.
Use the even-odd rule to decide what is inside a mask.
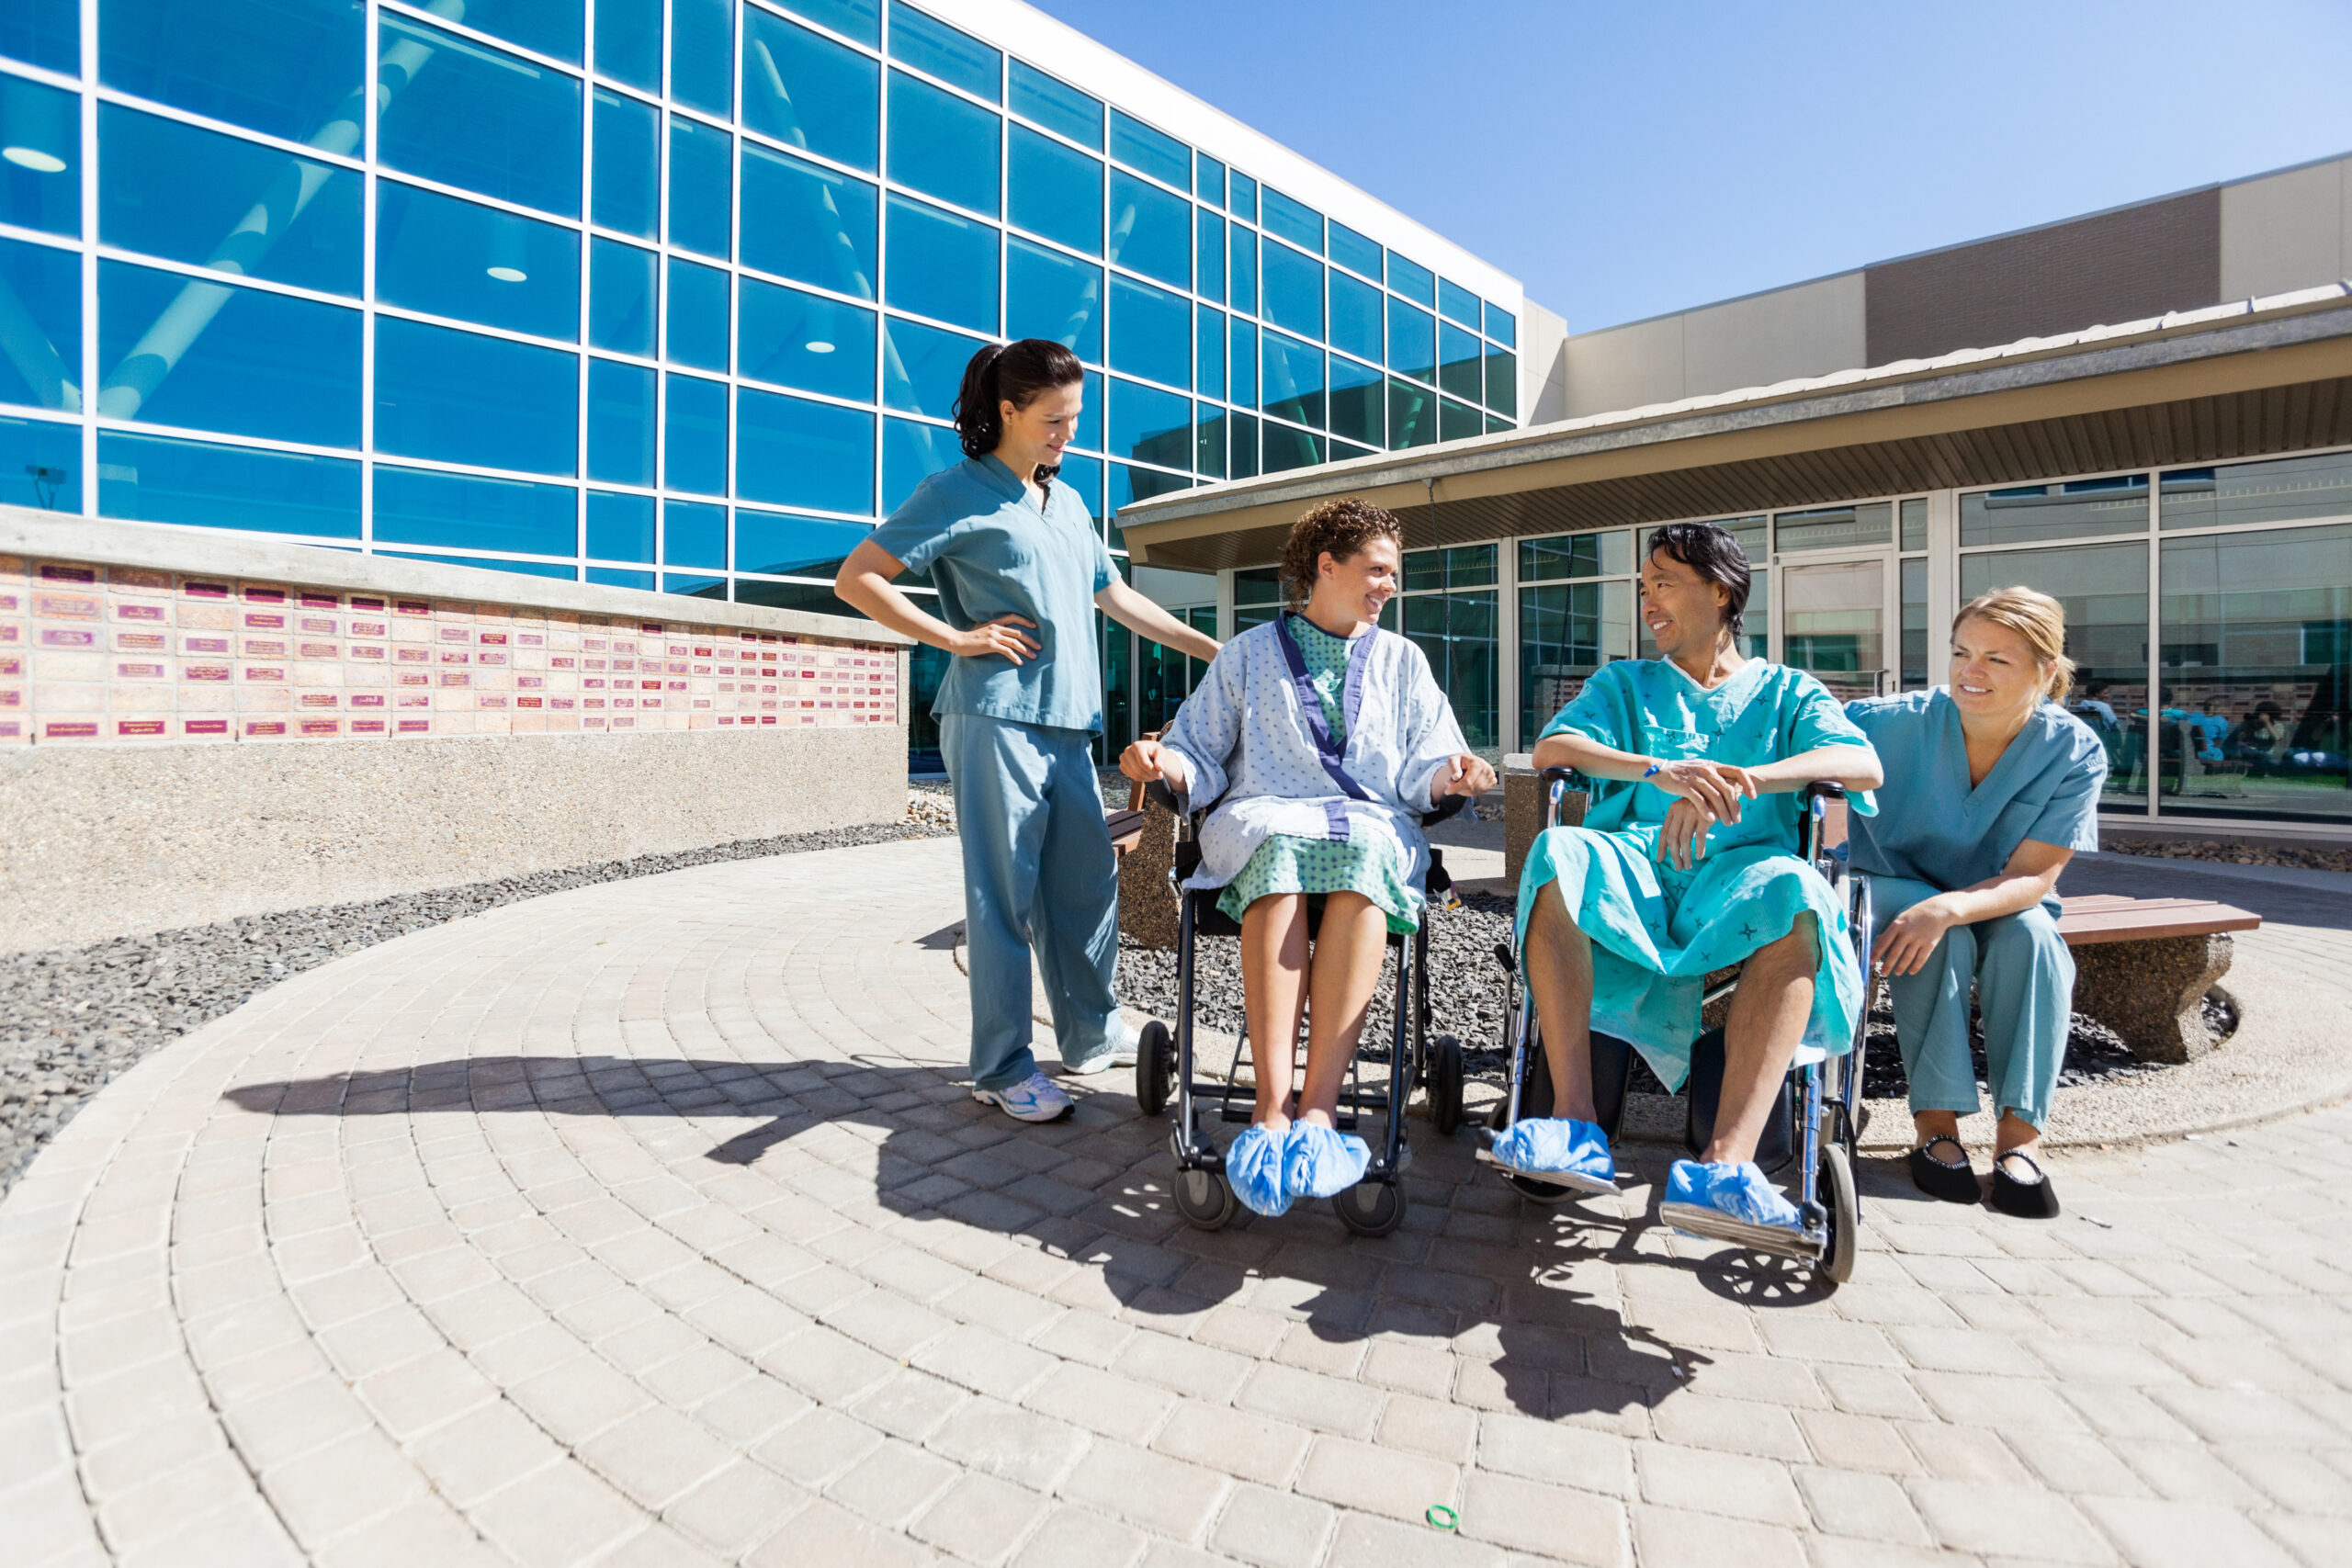
[[[14,487],[7,494],[14,498]],[[99,515],[358,538],[360,463],[99,430]]]

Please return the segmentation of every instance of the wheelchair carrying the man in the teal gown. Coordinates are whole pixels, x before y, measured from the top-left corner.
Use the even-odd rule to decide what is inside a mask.
[[[1573,769],[1545,769],[1543,825],[1559,825],[1559,802],[1576,780]],[[1846,790],[1835,783],[1811,783],[1799,795],[1797,853],[1846,900],[1846,926],[1856,959],[1863,966],[1860,1016],[1853,1020],[1853,1051],[1825,1056],[1816,1046],[1799,1046],[1788,1077],[1764,1121],[1757,1143],[1757,1166],[1780,1178],[1795,1166],[1797,1213],[1804,1234],[1771,1241],[1743,1239],[1752,1251],[1809,1262],[1828,1284],[1837,1286],[1853,1276],[1856,1237],[1863,1222],[1860,1194],[1853,1185],[1856,1143],[1863,1133],[1863,1056],[1867,1048],[1870,997],[1877,983],[1870,976],[1870,947],[1877,940],[1877,922],[1870,905],[1870,879],[1846,870],[1846,844],[1825,844],[1825,818],[1832,804],[1842,806]],[[1552,1070],[1543,1058],[1543,1030],[1536,1020],[1534,997],[1526,994],[1524,976],[1508,945],[1496,947],[1496,961],[1510,976],[1510,999],[1503,1013],[1503,1039],[1510,1041],[1510,1084],[1503,1103],[1489,1117],[1496,1133],[1510,1128],[1519,1117],[1552,1114]],[[1715,1004],[1731,994],[1738,980],[1726,980],[1705,994]],[[1613,1034],[1592,1034],[1592,1100],[1599,1126],[1616,1145],[1618,1121],[1625,1114],[1625,1081],[1632,1072],[1632,1044]],[[1691,1046],[1691,1077],[1684,1086],[1689,1114],[1684,1121],[1684,1147],[1696,1159],[1715,1135],[1715,1114],[1724,1086],[1724,1032],[1708,1030]],[[1566,1204],[1585,1197],[1571,1187],[1505,1171],[1486,1150],[1479,1161],[1503,1171],[1503,1178],[1524,1197],[1538,1204]]]

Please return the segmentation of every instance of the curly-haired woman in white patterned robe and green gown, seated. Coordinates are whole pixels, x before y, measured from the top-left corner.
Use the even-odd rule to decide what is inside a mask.
[[[1336,1128],[1338,1086],[1388,933],[1421,924],[1421,813],[1494,788],[1430,661],[1376,625],[1397,550],[1397,520],[1376,505],[1343,496],[1310,510],[1282,548],[1289,611],[1228,642],[1167,733],[1120,757],[1129,778],[1216,802],[1185,886],[1223,889],[1216,907],[1242,922],[1258,1105],[1225,1150],[1225,1178],[1263,1215],[1364,1178],[1371,1152]],[[1312,959],[1310,900],[1322,903]],[[1294,1093],[1301,1004],[1308,1072]]]

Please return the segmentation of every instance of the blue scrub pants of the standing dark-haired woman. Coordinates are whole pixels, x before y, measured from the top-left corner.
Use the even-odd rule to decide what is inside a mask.
[[[974,712],[938,715],[964,842],[971,1086],[1011,1088],[1030,1056],[1030,943],[1065,1065],[1110,1048],[1120,1004],[1120,872],[1094,736]]]

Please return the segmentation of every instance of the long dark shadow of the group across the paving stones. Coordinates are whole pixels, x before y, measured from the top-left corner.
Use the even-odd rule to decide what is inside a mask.
[[[223,1098],[275,1117],[694,1126],[708,1138],[699,1157],[680,1159],[694,1140],[668,1131],[642,1147],[677,1175],[694,1159],[757,1168],[779,1197],[800,1199],[793,1208],[807,1222],[830,1213],[868,1227],[913,1220],[1018,1237],[1082,1269],[1047,1298],[1268,1363],[1355,1363],[1381,1345],[1456,1349],[1461,1385],[1428,1382],[1439,1363],[1423,1356],[1416,1392],[1543,1420],[1625,1422],[1710,1361],[1632,1321],[1606,1269],[1590,1276],[1637,1258],[1639,1220],[1519,1206],[1472,1175],[1468,1140],[1435,1140],[1428,1128],[1416,1128],[1428,1147],[1406,1173],[1416,1199],[1406,1227],[1364,1239],[1329,1204],[1308,1201],[1279,1220],[1244,1215],[1195,1232],[1169,1192],[1167,1124],[1138,1117],[1129,1095],[1082,1093],[1075,1117],[1021,1128],[948,1072],[903,1063],[473,1056],[242,1084]],[[1449,1187],[1463,1185],[1489,1194],[1489,1213],[1454,1206]],[[1653,1248],[1639,1258],[1672,1267]],[[790,1295],[790,1281],[774,1288]],[[1230,1307],[1242,1312],[1223,1319]],[[1404,1387],[1402,1373],[1392,1382]]]

